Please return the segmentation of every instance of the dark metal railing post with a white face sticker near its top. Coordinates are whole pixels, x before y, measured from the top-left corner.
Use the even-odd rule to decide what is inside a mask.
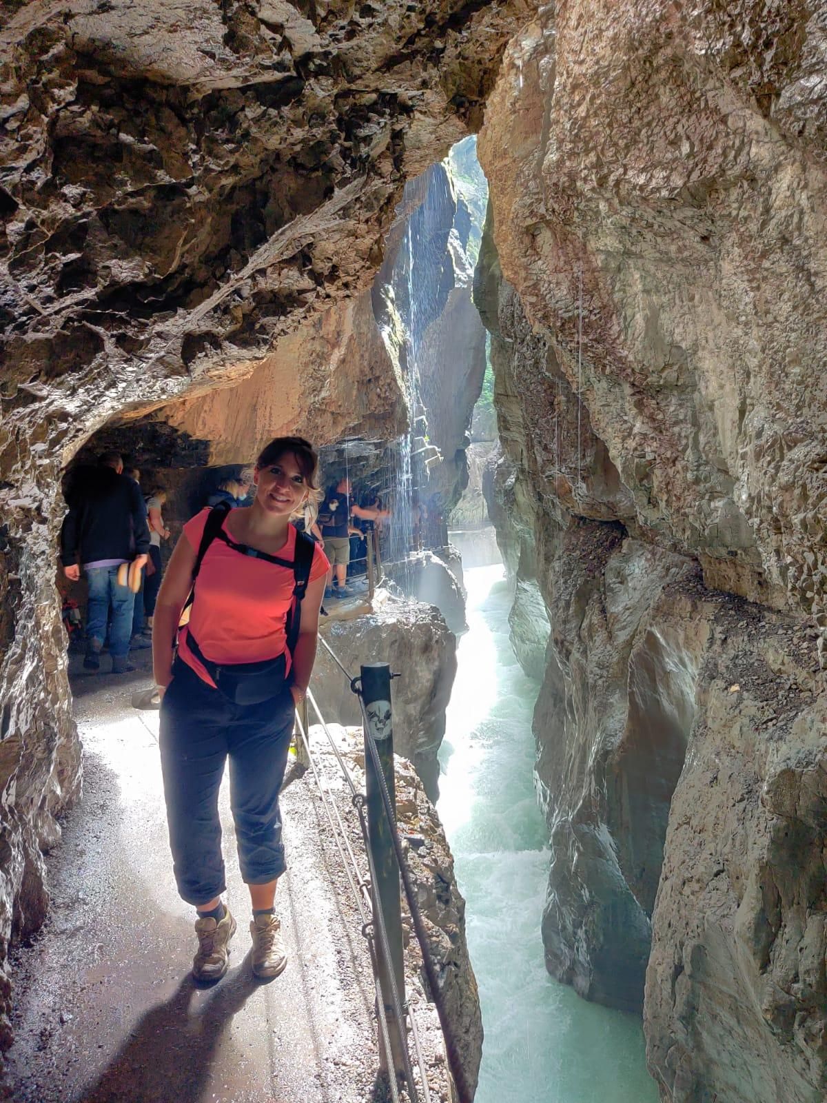
[[[402,922],[399,888],[399,866],[390,838],[390,825],[385,815],[382,790],[376,775],[373,756],[367,741],[373,740],[378,752],[390,803],[396,814],[396,784],[394,780],[394,725],[390,711],[390,666],[387,663],[369,663],[362,667],[362,697],[367,713],[365,729],[365,781],[367,835],[376,870],[376,884],[372,886],[374,908],[382,908],[388,936],[390,967],[399,997],[405,999],[405,970],[402,960]],[[391,996],[388,962],[384,954],[379,957],[379,986],[390,1035],[390,1049],[397,1073],[405,1074],[402,1059],[402,1031],[405,1022],[396,1017]]]

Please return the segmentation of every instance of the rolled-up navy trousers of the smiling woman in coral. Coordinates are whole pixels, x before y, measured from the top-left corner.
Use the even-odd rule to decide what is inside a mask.
[[[246,885],[284,872],[279,790],[293,730],[284,684],[259,705],[235,705],[181,658],[161,702],[161,770],[179,895],[207,903],[226,888],[218,786],[229,759],[229,803]]]

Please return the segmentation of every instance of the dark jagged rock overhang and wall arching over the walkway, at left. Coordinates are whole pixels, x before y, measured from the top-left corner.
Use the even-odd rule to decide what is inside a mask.
[[[305,320],[325,341],[311,315],[369,285],[406,178],[479,124],[527,10],[30,0],[4,13],[0,962],[12,927],[42,917],[39,846],[79,785],[54,587],[62,468],[127,414],[260,365],[283,385],[266,374],[278,342]],[[278,426],[298,428],[320,387],[331,433],[394,401],[368,410],[347,387],[336,419],[337,384],[307,381]],[[205,418],[236,435],[223,401],[179,410],[182,447],[202,448],[187,433]],[[3,973],[0,1041],[8,1007]]]

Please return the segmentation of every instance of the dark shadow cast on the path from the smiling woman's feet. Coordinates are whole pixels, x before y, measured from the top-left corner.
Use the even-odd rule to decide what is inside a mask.
[[[222,1035],[259,987],[249,954],[211,989],[187,975],[170,999],[138,1020],[98,1080],[73,1103],[200,1103]],[[206,1002],[193,1010],[196,994]]]

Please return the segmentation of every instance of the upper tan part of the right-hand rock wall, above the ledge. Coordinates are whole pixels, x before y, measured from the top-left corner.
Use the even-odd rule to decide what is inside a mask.
[[[804,6],[546,7],[480,137],[503,274],[582,403],[576,512],[605,500],[588,420],[653,539],[710,586],[813,614],[826,100],[801,90],[824,42]]]

